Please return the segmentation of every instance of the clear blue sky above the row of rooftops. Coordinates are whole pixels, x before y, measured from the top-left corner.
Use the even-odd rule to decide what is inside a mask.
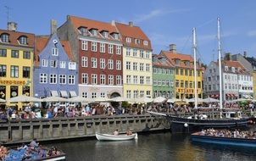
[[[177,45],[178,53],[192,54],[192,28],[197,28],[198,57],[205,64],[217,58],[217,17],[221,20],[222,53],[256,57],[256,1],[254,0],[0,0],[0,28],[9,20],[18,31],[46,35],[50,19],[62,25],[66,15],[110,22],[133,21],[147,34],[153,53]]]

